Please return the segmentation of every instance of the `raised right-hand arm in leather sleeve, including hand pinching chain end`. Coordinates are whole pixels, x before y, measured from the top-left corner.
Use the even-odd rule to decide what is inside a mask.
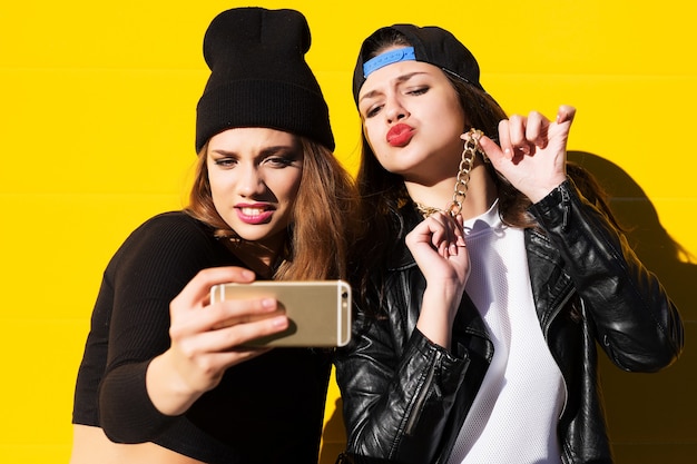
[[[491,162],[533,203],[530,211],[565,258],[610,359],[627,371],[652,372],[683,349],[683,325],[660,283],[627,240],[567,180],[567,140],[576,109],[554,121],[539,112],[499,125],[501,147],[482,137]]]

